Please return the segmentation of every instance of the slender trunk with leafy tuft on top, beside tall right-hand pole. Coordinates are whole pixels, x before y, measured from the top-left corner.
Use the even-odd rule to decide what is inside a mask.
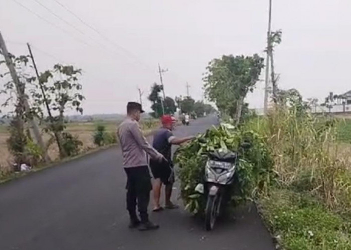
[[[267,48],[268,54],[271,60],[272,97],[275,103],[277,102],[277,91],[278,91],[277,81],[279,79],[279,75],[275,74],[273,51],[274,51],[274,47],[281,43],[281,35],[282,35],[282,31],[280,29],[277,31],[272,31],[269,37],[270,46]]]

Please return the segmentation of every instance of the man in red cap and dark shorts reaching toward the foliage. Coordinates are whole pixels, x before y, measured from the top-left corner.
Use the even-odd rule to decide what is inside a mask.
[[[162,183],[165,185],[164,207],[167,209],[174,209],[179,207],[170,201],[174,182],[173,163],[171,160],[171,145],[179,145],[194,138],[194,136],[188,136],[184,138],[175,137],[172,133],[174,119],[170,115],[163,115],[161,117],[161,122],[162,127],[155,132],[153,136],[152,146],[158,152],[160,152],[167,161],[160,163],[159,161],[150,159],[150,168],[155,179],[153,182],[153,211],[163,210],[163,207],[161,207],[159,204]]]

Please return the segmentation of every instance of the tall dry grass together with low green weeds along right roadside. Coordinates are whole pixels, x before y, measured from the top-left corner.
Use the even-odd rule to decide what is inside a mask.
[[[266,137],[273,156],[258,203],[277,247],[351,249],[350,121],[277,107],[246,126]]]

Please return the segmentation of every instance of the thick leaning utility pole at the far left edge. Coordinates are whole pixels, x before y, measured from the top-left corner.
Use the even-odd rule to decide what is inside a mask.
[[[29,114],[31,109],[30,109],[30,106],[29,106],[29,103],[28,103],[28,99],[27,99],[27,96],[26,96],[26,93],[25,93],[25,86],[20,81],[20,78],[17,75],[16,69],[15,69],[15,65],[14,65],[14,63],[12,61],[12,58],[9,55],[9,51],[8,51],[8,49],[6,47],[5,40],[4,40],[3,35],[1,34],[1,32],[0,32],[0,49],[2,51],[2,54],[5,57],[6,65],[8,66],[8,68],[10,70],[11,77],[12,77],[14,83],[15,83],[17,94],[18,94],[22,104],[24,105],[24,110],[26,111],[26,113]],[[32,125],[34,136],[35,136],[39,146],[42,148],[42,150],[44,152],[44,159],[45,159],[46,162],[49,162],[50,158],[48,156],[48,153],[45,150],[45,145],[44,145],[44,141],[43,141],[42,135],[40,134],[38,122],[36,121],[35,117],[30,117],[30,122],[31,122],[31,125]]]

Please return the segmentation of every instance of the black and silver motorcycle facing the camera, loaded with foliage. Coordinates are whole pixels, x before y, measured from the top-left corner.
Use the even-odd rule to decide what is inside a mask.
[[[246,147],[248,145],[243,145]],[[230,198],[230,190],[236,180],[235,170],[238,153],[222,148],[208,153],[205,166],[205,181],[196,186],[195,190],[206,195],[205,227],[212,230],[223,206]]]

